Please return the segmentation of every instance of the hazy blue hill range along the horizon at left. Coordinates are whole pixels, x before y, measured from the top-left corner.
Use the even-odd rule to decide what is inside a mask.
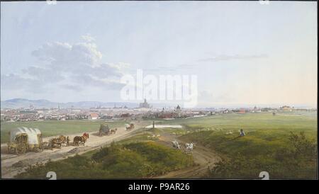
[[[97,106],[113,108],[114,105],[121,107],[126,105],[128,108],[138,107],[138,103],[102,103],[99,101],[82,101],[69,103],[55,103],[47,100],[28,100],[24,98],[13,98],[6,101],[1,101],[1,108],[30,108],[33,105],[35,108],[96,108]]]

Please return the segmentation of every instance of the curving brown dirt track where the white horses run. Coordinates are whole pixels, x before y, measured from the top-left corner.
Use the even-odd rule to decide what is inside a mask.
[[[178,138],[174,138],[172,135],[162,135],[159,143],[172,147],[172,140],[177,139],[181,145],[181,149],[184,149],[185,142],[182,142]],[[197,145],[193,149],[193,158],[195,166],[191,166],[186,169],[178,171],[172,171],[162,176],[156,176],[154,178],[207,178],[208,167],[212,168],[214,164],[220,160],[220,157],[211,149],[207,147]]]

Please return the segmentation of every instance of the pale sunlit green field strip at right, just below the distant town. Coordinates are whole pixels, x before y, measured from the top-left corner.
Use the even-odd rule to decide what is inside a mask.
[[[189,130],[205,127],[221,127],[223,130],[278,130],[283,132],[305,131],[311,135],[317,132],[317,112],[231,113],[202,118],[165,120],[166,124],[185,125]]]

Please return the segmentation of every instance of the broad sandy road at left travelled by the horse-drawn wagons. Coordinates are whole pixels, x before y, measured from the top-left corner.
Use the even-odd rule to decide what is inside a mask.
[[[26,169],[29,164],[36,164],[37,162],[45,163],[49,159],[51,161],[57,161],[60,159],[66,159],[67,156],[74,156],[75,154],[83,154],[93,149],[97,149],[102,145],[110,144],[113,141],[125,139],[134,134],[134,132],[142,127],[140,123],[135,124],[135,130],[127,131],[125,127],[118,127],[116,134],[106,135],[99,137],[96,132],[89,132],[89,139],[85,143],[85,146],[80,145],[79,147],[62,146],[61,149],[45,149],[43,152],[27,152],[26,154],[15,155],[6,154],[6,144],[1,144],[1,178],[13,178],[16,174],[21,173]],[[83,133],[69,135],[70,139],[75,136],[81,136]],[[52,137],[43,138],[43,142],[48,142]],[[72,141],[72,140],[71,140]],[[23,162],[23,166],[13,167],[13,164],[17,162]]]

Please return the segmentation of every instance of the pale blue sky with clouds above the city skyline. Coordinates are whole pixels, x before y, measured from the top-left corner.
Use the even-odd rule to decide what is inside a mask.
[[[118,102],[142,69],[196,75],[198,106],[316,106],[317,42],[316,2],[1,2],[1,101]]]

